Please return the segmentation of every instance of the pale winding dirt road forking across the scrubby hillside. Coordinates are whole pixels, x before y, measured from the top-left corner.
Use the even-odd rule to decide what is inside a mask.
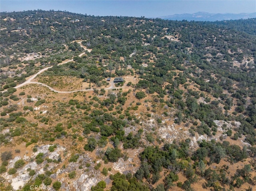
[[[78,42],[78,43],[81,45],[81,47],[83,47],[85,50],[87,50],[87,51],[90,52],[91,49],[86,49],[84,46],[82,46],[81,42],[82,42],[82,41]],[[78,56],[81,57],[81,56],[84,55],[84,54],[85,54],[85,53],[81,53],[81,54],[78,55]],[[71,61],[74,61],[74,60],[73,60],[73,59],[70,59],[70,60],[65,61],[65,62],[62,62],[62,63],[60,63],[60,64],[58,64],[58,65],[66,64],[66,63],[71,62]],[[39,75],[40,73],[43,73],[44,71],[48,70],[49,68],[52,68],[52,66],[40,70],[38,73],[36,73],[36,74],[33,75],[32,77],[30,77],[30,78],[29,78],[28,80],[26,80],[24,83],[22,83],[22,84],[20,84],[20,85],[17,85],[17,86],[14,87],[14,88],[17,89],[17,88],[20,88],[20,87],[22,87],[22,86],[24,86],[24,85],[27,85],[27,84],[40,84],[40,85],[42,85],[42,86],[48,87],[51,91],[54,91],[54,92],[57,92],[57,93],[74,93],[74,92],[79,92],[79,91],[93,91],[93,89],[84,89],[84,90],[75,90],[75,91],[57,91],[57,90],[53,89],[52,87],[50,87],[50,86],[48,86],[48,85],[46,85],[46,84],[44,84],[44,83],[32,82],[32,80],[33,80],[37,75]],[[110,82],[110,87],[104,88],[104,90],[114,89],[114,87],[115,87],[115,86],[114,86],[114,81],[112,81],[112,82]],[[100,89],[99,89],[99,90],[100,90]],[[4,92],[4,91],[3,91],[3,92]]]

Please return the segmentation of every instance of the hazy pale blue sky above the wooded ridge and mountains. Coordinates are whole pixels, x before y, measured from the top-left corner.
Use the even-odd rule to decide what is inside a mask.
[[[182,13],[252,13],[256,0],[0,0],[0,12],[61,10],[94,16],[160,17]]]

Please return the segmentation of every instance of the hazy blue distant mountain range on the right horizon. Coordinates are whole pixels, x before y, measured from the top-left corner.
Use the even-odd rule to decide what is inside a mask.
[[[161,19],[165,20],[188,20],[188,21],[222,21],[222,20],[237,20],[237,19],[248,19],[256,18],[255,13],[239,13],[239,14],[215,14],[206,12],[197,12],[193,14],[174,14],[169,16],[162,16]]]

